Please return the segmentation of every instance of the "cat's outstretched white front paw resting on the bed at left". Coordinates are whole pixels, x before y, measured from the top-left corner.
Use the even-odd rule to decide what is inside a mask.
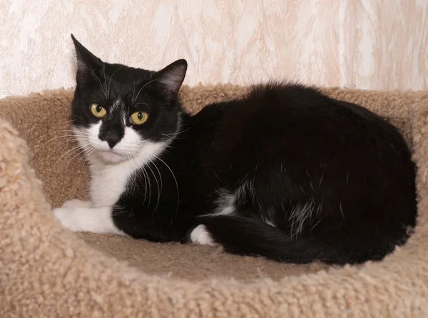
[[[59,207],[53,212],[61,225],[73,232],[124,235],[114,225],[111,207]]]

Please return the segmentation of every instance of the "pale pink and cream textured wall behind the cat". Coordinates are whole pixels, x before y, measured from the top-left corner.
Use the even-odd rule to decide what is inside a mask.
[[[427,0],[0,0],[0,97],[73,86],[70,33],[185,83],[428,88]]]

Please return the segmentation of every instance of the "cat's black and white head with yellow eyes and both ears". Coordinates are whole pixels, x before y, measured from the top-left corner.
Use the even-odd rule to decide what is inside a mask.
[[[153,159],[179,129],[186,61],[161,71],[105,63],[71,38],[78,65],[71,120],[81,147],[104,163]]]

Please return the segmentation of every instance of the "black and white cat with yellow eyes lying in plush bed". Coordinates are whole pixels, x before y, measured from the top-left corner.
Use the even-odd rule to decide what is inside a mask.
[[[91,200],[55,209],[64,227],[297,263],[381,260],[407,240],[415,165],[386,120],[287,83],[189,116],[185,60],[146,71],[73,41]]]

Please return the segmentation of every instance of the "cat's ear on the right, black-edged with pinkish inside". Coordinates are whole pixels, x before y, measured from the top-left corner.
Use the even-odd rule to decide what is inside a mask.
[[[184,59],[180,59],[156,72],[153,76],[153,82],[159,92],[172,101],[180,91],[186,71],[187,62]]]

